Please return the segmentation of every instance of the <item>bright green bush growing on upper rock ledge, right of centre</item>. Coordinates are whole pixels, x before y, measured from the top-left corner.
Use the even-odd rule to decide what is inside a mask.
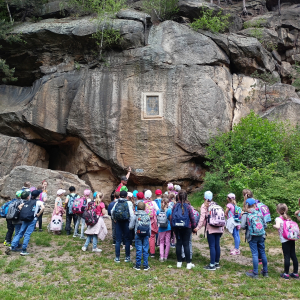
[[[229,26],[229,17],[230,14],[223,15],[222,10],[214,14],[213,9],[208,9],[203,11],[203,15],[199,19],[194,20],[191,26],[194,30],[204,29],[214,33],[223,32]]]

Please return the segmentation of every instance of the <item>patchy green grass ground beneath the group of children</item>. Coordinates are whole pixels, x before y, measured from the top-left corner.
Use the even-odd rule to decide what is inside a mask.
[[[195,196],[194,196],[195,197]],[[192,200],[195,207],[202,200]],[[198,203],[195,204],[195,201]],[[5,220],[0,220],[0,241],[5,237]],[[135,271],[133,264],[113,262],[114,247],[110,235],[100,242],[101,254],[91,249],[82,252],[83,241],[62,234],[53,236],[34,232],[27,257],[17,253],[4,254],[0,245],[0,299],[299,299],[300,281],[283,280],[283,256],[277,232],[268,229],[266,253],[269,278],[251,280],[245,272],[252,268],[251,252],[241,232],[240,257],[229,257],[233,238],[226,233],[221,239],[221,269],[216,272],[203,270],[209,263],[209,249],[205,238],[198,235],[193,243],[192,270],[176,268],[175,249],[171,249],[168,262],[149,258],[151,269]],[[91,247],[91,246],[90,246]],[[296,244],[299,253],[299,243]],[[225,256],[225,257],[224,257]],[[132,259],[135,251],[132,251]]]

